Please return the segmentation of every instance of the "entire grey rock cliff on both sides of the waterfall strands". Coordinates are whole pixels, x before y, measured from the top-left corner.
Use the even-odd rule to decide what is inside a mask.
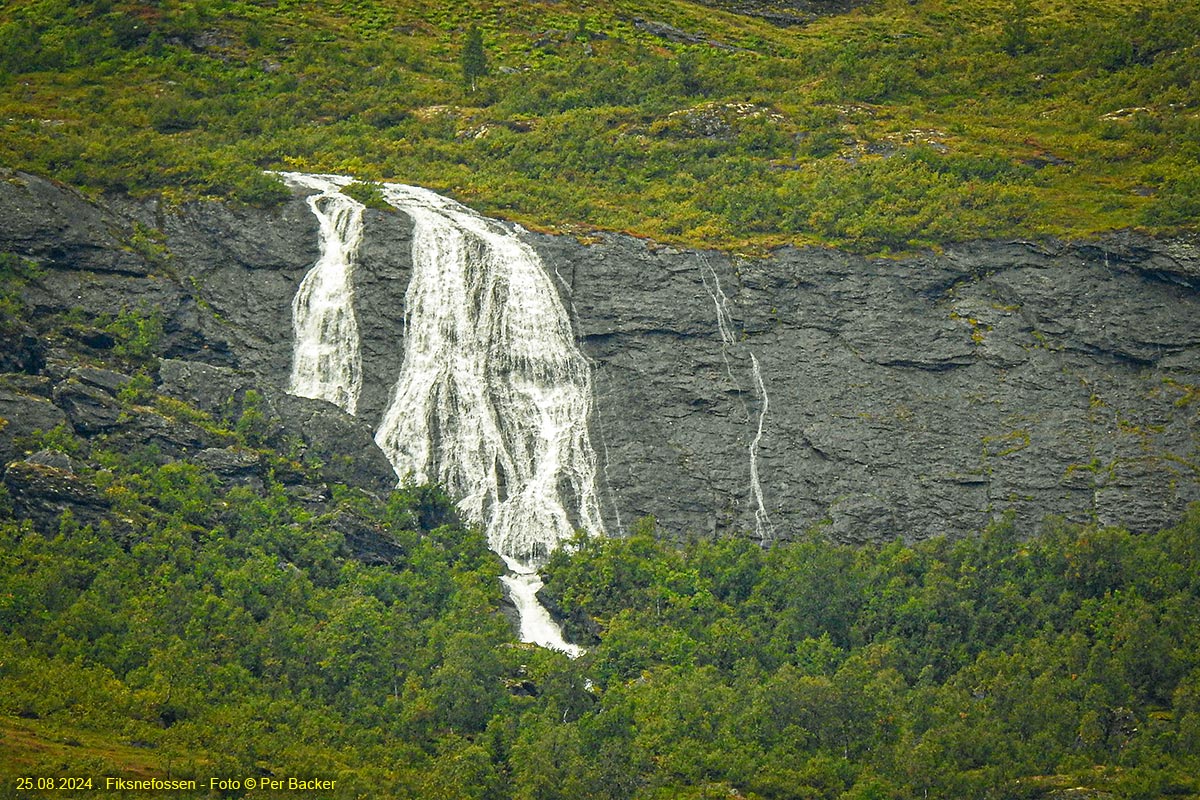
[[[0,212],[16,217],[0,252],[53,270],[26,291],[38,313],[160,308],[172,357],[158,391],[221,416],[254,389],[264,435],[301,437],[336,470],[330,480],[372,489],[395,480],[371,431],[403,360],[407,217],[365,217],[355,420],[283,392],[292,297],[318,255],[302,198],[266,211],[167,211],[91,205],[23,178],[0,181]],[[163,233],[167,267],[107,253],[134,219]],[[529,240],[594,365],[592,440],[611,531],[654,515],[678,536],[780,540],[824,524],[863,542],[961,535],[1008,511],[1027,530],[1048,515],[1150,530],[1200,499],[1195,241],[979,242],[902,260],[782,249],[744,260],[628,236]],[[6,461],[22,457],[11,450],[18,434],[68,423],[154,435],[163,452],[229,481],[257,480],[223,443],[152,421],[139,433],[102,373],[0,381]],[[20,467],[12,480],[44,477],[38,471],[50,469]],[[314,501],[322,492],[312,489]]]

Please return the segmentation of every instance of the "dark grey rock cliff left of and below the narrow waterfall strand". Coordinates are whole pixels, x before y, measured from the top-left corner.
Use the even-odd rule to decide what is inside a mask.
[[[263,414],[257,435],[265,443],[284,452],[299,449],[329,482],[377,493],[395,486],[370,426],[284,391],[292,295],[317,254],[302,201],[266,212],[218,203],[162,210],[127,199],[89,203],[30,175],[4,178],[0,216],[12,224],[0,230],[0,252],[30,258],[43,269],[23,290],[34,318],[161,314],[158,351],[167,357],[157,362],[156,391],[229,422],[245,413],[248,392],[257,391]],[[150,225],[163,252],[148,257],[128,242],[139,227],[144,235]],[[118,393],[130,375],[78,366],[80,357],[110,359],[112,336],[86,323],[58,330],[76,341],[43,345],[37,359],[7,365],[44,374],[0,374],[0,465],[10,464],[5,480],[18,509],[30,516],[38,511],[40,521],[52,525],[52,512],[76,497],[67,491],[72,480],[55,477],[53,465],[20,461],[35,433],[60,425],[109,449],[161,462],[188,459],[227,482],[262,482],[265,470],[247,453],[228,450],[220,437],[186,419],[121,403]],[[18,336],[22,343],[28,338],[24,329]],[[301,476],[276,479],[301,499],[318,505],[329,499],[326,487],[305,486]]]

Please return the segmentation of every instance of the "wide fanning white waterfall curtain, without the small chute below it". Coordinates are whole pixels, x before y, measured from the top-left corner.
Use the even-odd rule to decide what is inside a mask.
[[[529,572],[576,527],[604,533],[588,363],[515,231],[427,190],[383,193],[414,222],[413,277],[404,363],[376,441],[398,475],[442,482]]]

